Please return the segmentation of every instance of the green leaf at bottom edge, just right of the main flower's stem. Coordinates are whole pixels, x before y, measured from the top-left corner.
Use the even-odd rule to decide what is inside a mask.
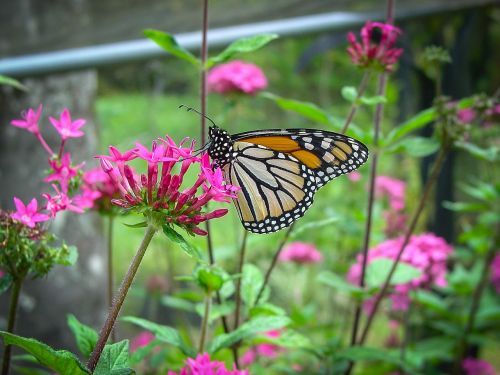
[[[128,340],[106,345],[94,371],[95,375],[128,375],[133,373],[134,371],[129,368]]]

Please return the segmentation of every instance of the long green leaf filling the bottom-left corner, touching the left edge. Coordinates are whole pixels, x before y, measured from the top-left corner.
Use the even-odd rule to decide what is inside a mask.
[[[54,350],[50,346],[26,337],[0,331],[5,345],[15,345],[32,354],[42,365],[60,374],[89,374],[85,366],[73,353],[67,350]]]

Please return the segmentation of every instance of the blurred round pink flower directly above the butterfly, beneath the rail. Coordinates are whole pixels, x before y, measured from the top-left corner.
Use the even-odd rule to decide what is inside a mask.
[[[266,76],[257,65],[239,60],[216,66],[208,73],[207,81],[208,90],[219,94],[255,94],[267,87]]]

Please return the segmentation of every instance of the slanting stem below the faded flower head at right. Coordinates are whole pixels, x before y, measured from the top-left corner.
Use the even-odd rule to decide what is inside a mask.
[[[401,245],[401,248],[399,249],[398,254],[396,255],[396,258],[394,259],[394,263],[391,266],[391,269],[389,271],[389,274],[387,275],[384,284],[382,285],[382,289],[380,290],[380,293],[375,298],[375,302],[373,304],[372,310],[370,311],[370,314],[368,315],[368,319],[366,321],[365,327],[363,329],[363,332],[361,334],[361,338],[358,340],[357,344],[362,345],[367,336],[368,332],[370,331],[371,325],[373,323],[373,319],[375,317],[375,314],[377,313],[378,307],[380,305],[380,302],[384,298],[384,296],[387,294],[389,290],[389,286],[392,280],[392,277],[394,273],[396,272],[396,268],[399,264],[399,261],[401,260],[401,256],[403,255],[403,252],[406,248],[406,245],[410,242],[410,237],[413,234],[413,231],[415,230],[415,227],[417,226],[418,219],[420,218],[420,214],[422,213],[424,209],[424,205],[427,202],[427,199],[429,198],[429,194],[432,190],[432,187],[434,186],[434,183],[436,182],[437,178],[439,177],[439,173],[441,172],[441,168],[443,166],[444,160],[446,159],[446,155],[448,154],[448,147],[443,146],[441,150],[439,151],[439,154],[437,156],[436,161],[434,162],[434,165],[432,167],[431,174],[429,176],[429,179],[427,180],[425,187],[424,187],[424,193],[422,194],[422,197],[420,198],[420,202],[418,204],[417,210],[413,214],[412,220],[410,225],[408,226],[408,229],[406,230],[403,244]]]

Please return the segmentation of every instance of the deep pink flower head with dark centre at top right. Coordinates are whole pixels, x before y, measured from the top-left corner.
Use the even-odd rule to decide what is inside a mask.
[[[403,53],[402,48],[394,48],[401,30],[396,26],[381,22],[366,22],[361,29],[361,43],[356,35],[349,32],[347,53],[354,64],[391,72]]]

